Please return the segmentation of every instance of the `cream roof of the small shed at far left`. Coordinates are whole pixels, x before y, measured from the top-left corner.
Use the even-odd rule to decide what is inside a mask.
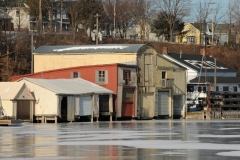
[[[0,83],[1,99],[2,100],[15,99],[23,85],[24,85],[23,82],[1,82]]]

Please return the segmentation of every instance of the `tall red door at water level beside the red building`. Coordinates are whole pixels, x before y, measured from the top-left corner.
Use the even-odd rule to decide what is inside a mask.
[[[122,116],[134,117],[134,88],[123,88]]]

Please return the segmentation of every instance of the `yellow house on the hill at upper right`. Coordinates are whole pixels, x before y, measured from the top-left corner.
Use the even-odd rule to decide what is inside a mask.
[[[204,28],[203,23],[187,23],[182,32],[176,35],[176,42],[200,44],[201,39],[203,39],[203,36],[201,37],[201,31],[204,31]]]

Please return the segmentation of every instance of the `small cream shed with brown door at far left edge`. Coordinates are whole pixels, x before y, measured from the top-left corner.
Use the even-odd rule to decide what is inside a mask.
[[[0,82],[0,97],[7,117],[33,120],[35,99],[24,82]]]

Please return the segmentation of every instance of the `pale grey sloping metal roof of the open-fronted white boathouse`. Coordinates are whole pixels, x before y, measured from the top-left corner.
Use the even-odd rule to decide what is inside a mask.
[[[56,94],[81,95],[89,93],[113,94],[113,91],[81,78],[74,79],[37,79],[23,78],[31,83],[46,88]],[[21,80],[20,80],[21,81]]]

